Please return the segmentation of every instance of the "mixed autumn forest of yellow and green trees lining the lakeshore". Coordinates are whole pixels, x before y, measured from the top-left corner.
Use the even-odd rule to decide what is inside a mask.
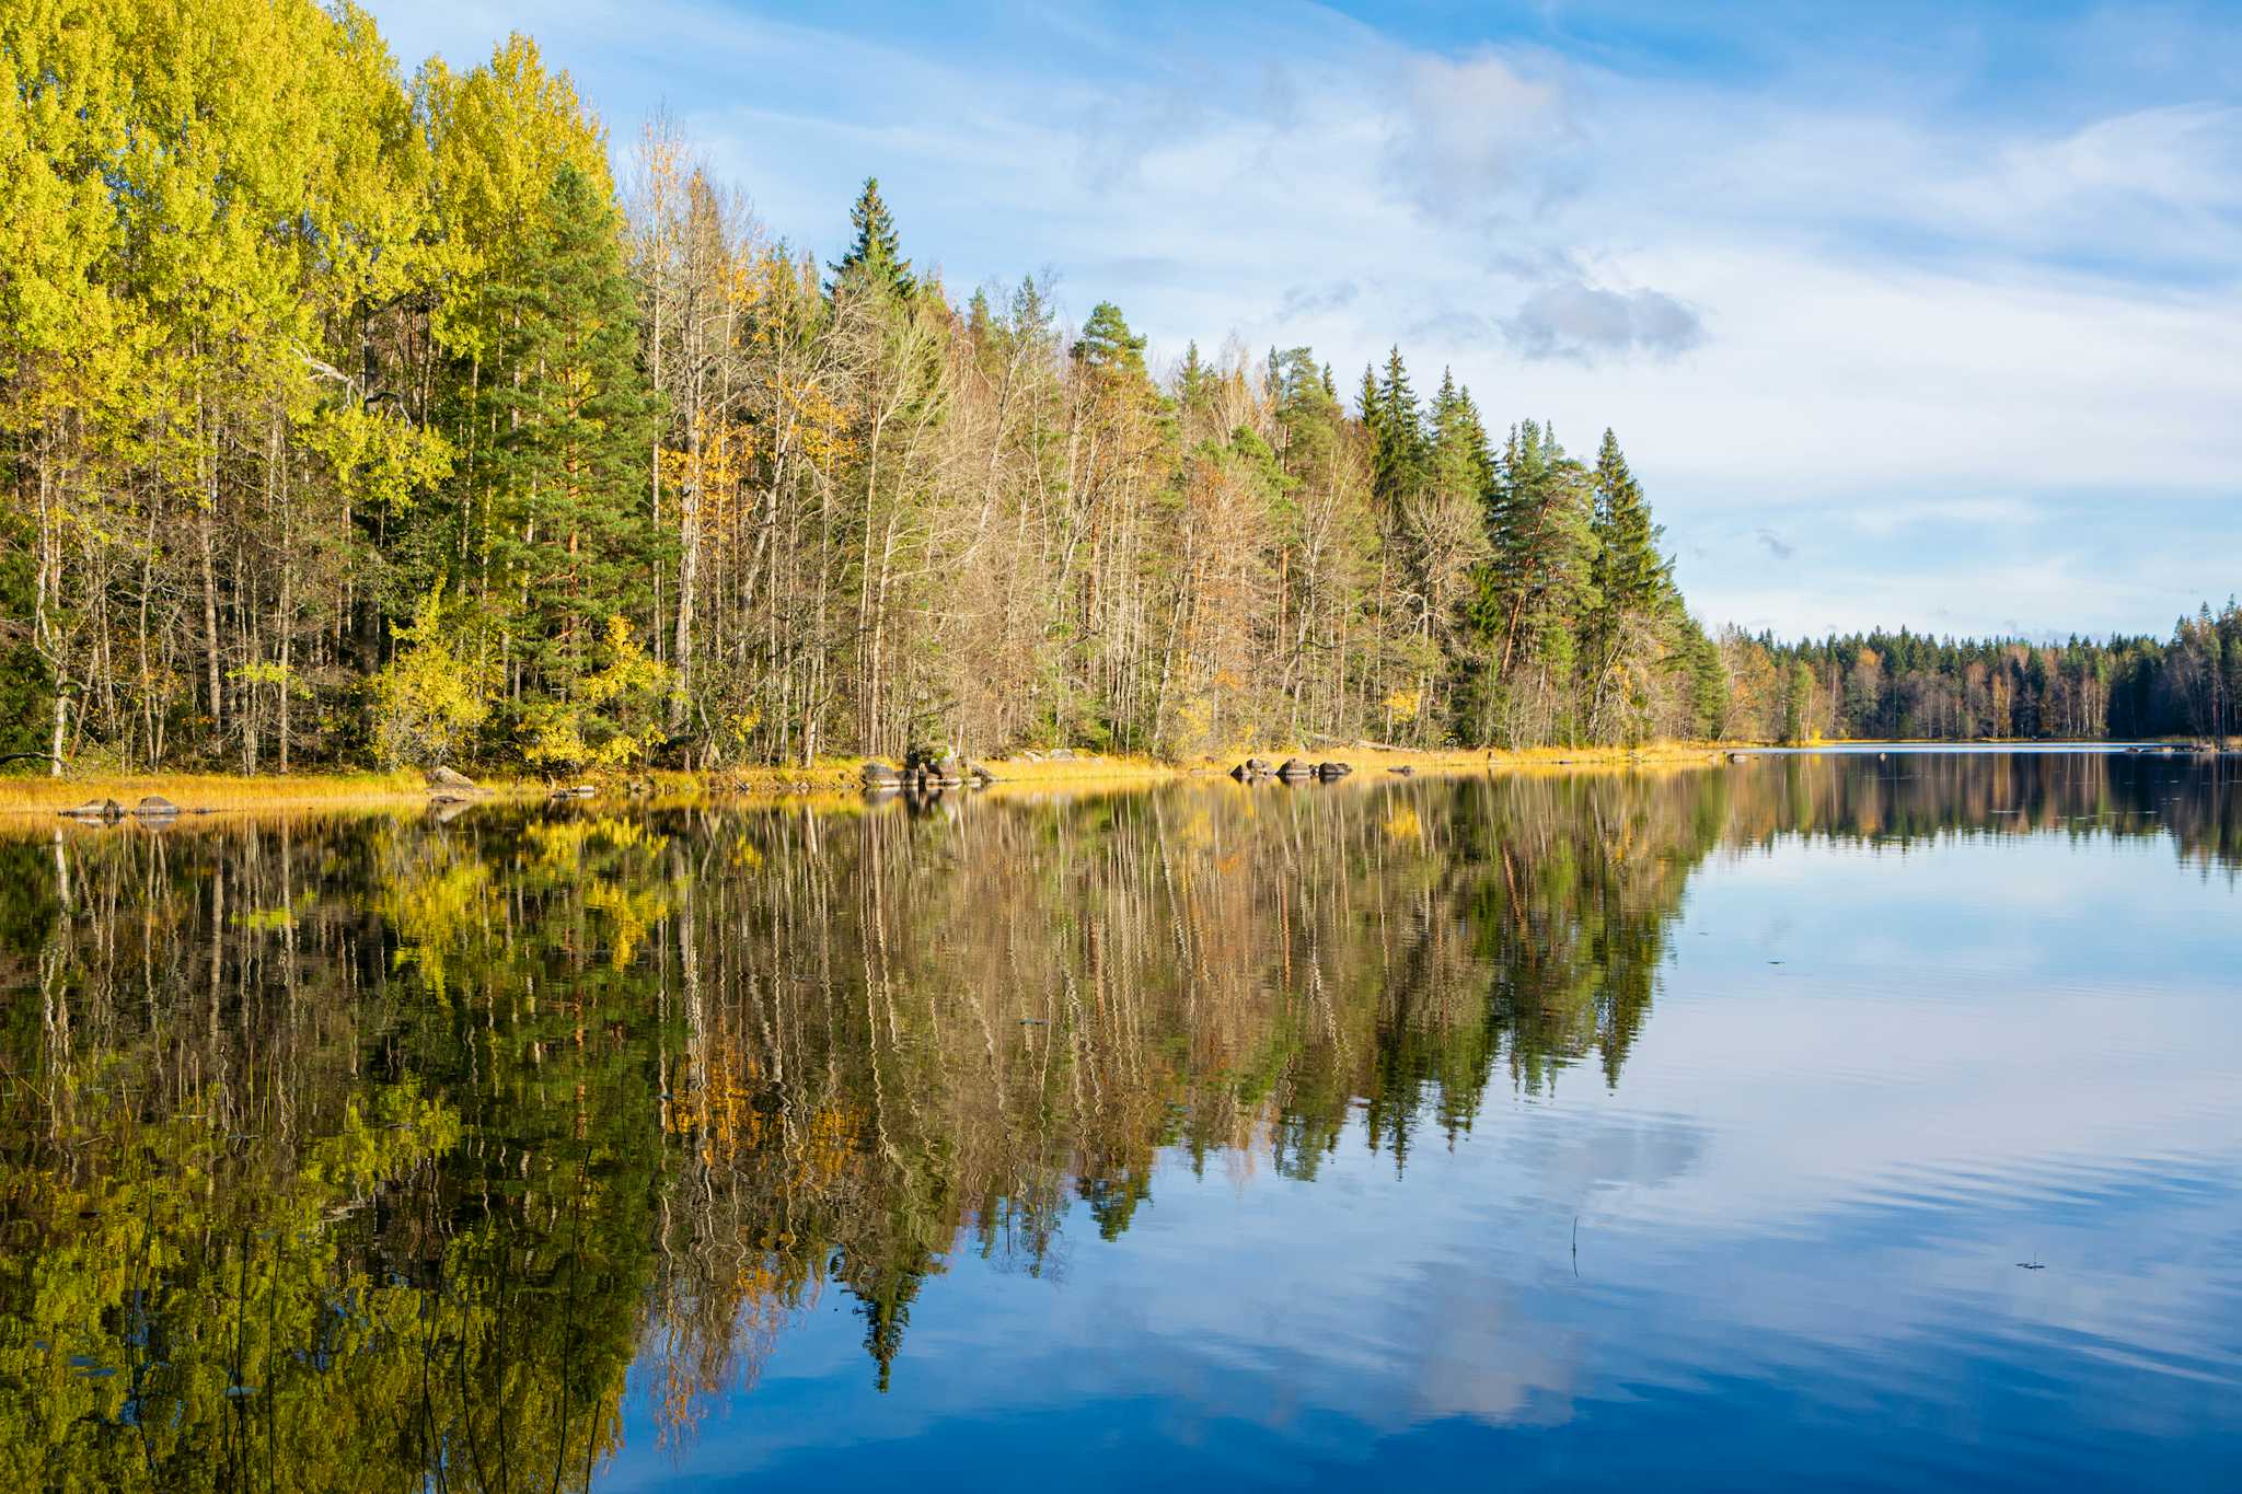
[[[1152,367],[1110,302],[946,287],[877,181],[821,262],[673,128],[612,150],[518,36],[406,76],[350,7],[16,4],[0,74],[0,750],[2231,723],[2233,609],[2056,652],[1715,638],[1612,432],[1495,430],[1399,349],[1345,392],[1307,347]]]

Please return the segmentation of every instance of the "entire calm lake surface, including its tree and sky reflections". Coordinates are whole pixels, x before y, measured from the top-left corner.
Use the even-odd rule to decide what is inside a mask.
[[[2235,1487],[2238,777],[18,824],[0,1483]]]

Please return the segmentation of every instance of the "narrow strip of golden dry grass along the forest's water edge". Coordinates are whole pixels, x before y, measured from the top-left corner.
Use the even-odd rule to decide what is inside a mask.
[[[1305,757],[1307,762],[1338,759],[1354,764],[1356,773],[1386,773],[1408,768],[1412,773],[1502,773],[1502,771],[1576,771],[1576,768],[1628,768],[1628,766],[1677,766],[1717,759],[1724,748],[1713,744],[1657,744],[1648,748],[1534,748],[1522,753],[1500,750],[1433,750],[1408,753],[1390,748],[1260,748],[1238,750],[1224,757],[1197,757],[1188,762],[1159,762],[1152,757],[1125,755],[1074,755],[1074,757],[991,757],[989,771],[1002,784],[1063,788],[1072,784],[1121,784],[1161,782],[1179,777],[1217,777],[1229,773],[1249,755],[1282,762]],[[643,775],[657,800],[711,800],[731,795],[803,795],[854,791],[861,782],[863,757],[834,757],[812,766],[738,766],[713,773],[652,773]],[[493,800],[545,797],[540,779],[475,777],[482,793]],[[621,791],[626,779],[601,784]],[[238,813],[238,811],[303,811],[303,809],[350,809],[350,806],[417,806],[428,800],[428,782],[417,771],[399,773],[289,773],[289,775],[224,775],[224,773],[155,773],[155,775],[83,775],[83,777],[0,777],[0,813],[54,815],[85,802],[117,800],[130,809],[146,795],[161,795],[184,811]]]

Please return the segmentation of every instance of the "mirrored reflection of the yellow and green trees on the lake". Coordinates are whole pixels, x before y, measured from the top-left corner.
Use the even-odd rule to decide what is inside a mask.
[[[20,829],[0,1472],[581,1487],[634,1362],[688,1436],[841,1288],[886,1386],[1164,1154],[1616,1086],[1708,856],[1953,833],[2242,865],[2217,766],[2110,755]]]

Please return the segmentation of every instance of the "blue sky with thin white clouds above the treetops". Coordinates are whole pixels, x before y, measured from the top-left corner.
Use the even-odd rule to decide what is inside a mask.
[[[1605,426],[1711,623],[2168,632],[2242,589],[2242,9],[372,0],[531,31],[827,258],[1175,358],[1399,343]]]

